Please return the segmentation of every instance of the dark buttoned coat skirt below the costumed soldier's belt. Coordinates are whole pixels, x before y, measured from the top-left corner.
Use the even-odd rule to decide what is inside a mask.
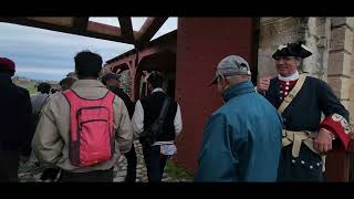
[[[321,156],[302,144],[299,157],[291,155],[292,144],[281,150],[278,181],[323,181]]]

